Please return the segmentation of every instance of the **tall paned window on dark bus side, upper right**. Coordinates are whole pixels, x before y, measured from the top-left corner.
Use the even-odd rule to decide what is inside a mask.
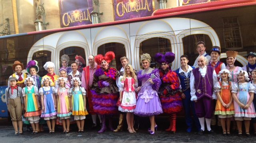
[[[226,49],[242,49],[240,25],[237,17],[223,18],[223,33]]]

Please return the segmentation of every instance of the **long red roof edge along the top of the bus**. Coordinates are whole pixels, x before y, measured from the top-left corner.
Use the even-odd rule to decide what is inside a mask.
[[[153,12],[152,16],[143,17],[143,18],[133,18],[128,20],[120,20],[114,22],[105,22],[100,24],[89,24],[89,25],[80,25],[74,27],[65,27],[65,28],[58,28],[58,29],[49,29],[49,30],[42,30],[42,31],[33,31],[28,33],[20,33],[14,35],[6,35],[0,36],[0,39],[5,37],[14,37],[19,35],[34,35],[40,33],[48,33],[48,32],[60,32],[60,31],[70,31],[76,29],[85,29],[85,28],[93,28],[93,27],[103,27],[109,25],[118,25],[118,24],[127,24],[133,22],[140,22],[146,20],[155,20],[160,18],[168,18],[173,16],[180,16],[184,14],[192,14],[197,12],[206,12],[211,10],[220,10],[225,8],[235,8],[240,6],[250,6],[256,5],[256,0],[218,0],[214,2],[205,2],[200,4],[192,4],[188,6],[179,6],[176,8],[166,8],[160,9]]]

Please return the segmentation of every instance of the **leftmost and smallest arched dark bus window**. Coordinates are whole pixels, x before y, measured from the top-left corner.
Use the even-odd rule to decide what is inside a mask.
[[[36,60],[38,62],[39,71],[37,74],[41,77],[47,74],[47,71],[43,66],[47,61],[51,61],[51,54],[52,52],[46,50],[37,51],[33,54],[32,60]]]

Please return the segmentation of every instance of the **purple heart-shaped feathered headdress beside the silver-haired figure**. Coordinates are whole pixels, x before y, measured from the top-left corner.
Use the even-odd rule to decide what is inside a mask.
[[[157,53],[155,55],[155,60],[157,63],[172,63],[175,59],[175,54],[172,52],[166,52],[165,55],[163,53]]]

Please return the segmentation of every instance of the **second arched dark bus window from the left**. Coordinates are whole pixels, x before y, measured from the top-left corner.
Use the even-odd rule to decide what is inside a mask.
[[[70,67],[70,63],[72,61],[76,61],[76,59],[75,59],[76,55],[82,56],[84,58],[84,60],[86,61],[85,51],[84,51],[84,48],[82,48],[82,47],[73,47],[72,46],[72,47],[66,47],[66,48],[62,49],[60,51],[60,60],[61,60],[61,56],[64,54],[68,55],[68,57],[69,57],[69,62],[68,62],[69,67]],[[62,67],[61,61],[59,64],[60,64],[60,67]]]

